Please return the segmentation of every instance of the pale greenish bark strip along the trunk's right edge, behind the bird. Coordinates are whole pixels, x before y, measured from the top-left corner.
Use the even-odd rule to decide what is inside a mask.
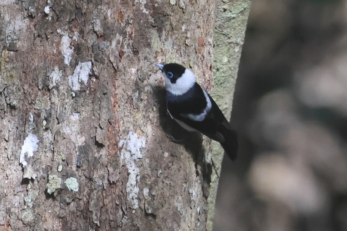
[[[211,96],[220,109],[230,118],[234,96],[238,65],[244,44],[246,25],[249,15],[250,0],[216,1],[216,21],[214,29],[213,82]],[[214,205],[217,194],[224,150],[218,142],[213,141],[214,170],[211,177],[211,190],[208,198],[208,230],[212,230]],[[225,161],[230,164],[226,157]]]

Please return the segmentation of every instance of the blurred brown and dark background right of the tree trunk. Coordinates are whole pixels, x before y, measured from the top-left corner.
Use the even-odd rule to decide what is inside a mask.
[[[214,231],[347,230],[347,1],[253,0]]]

